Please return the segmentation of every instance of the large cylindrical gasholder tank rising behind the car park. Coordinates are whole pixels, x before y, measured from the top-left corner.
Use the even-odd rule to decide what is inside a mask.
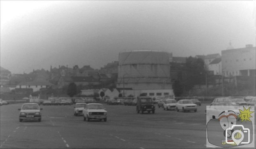
[[[118,87],[122,87],[125,83],[126,87],[133,89],[145,88],[147,85],[150,85],[149,88],[146,87],[148,89],[163,89],[164,86],[171,85],[169,53],[159,51],[119,53],[117,82]]]

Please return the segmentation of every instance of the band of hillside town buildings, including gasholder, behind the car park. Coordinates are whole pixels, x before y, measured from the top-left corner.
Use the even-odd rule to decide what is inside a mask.
[[[186,64],[188,57],[172,56],[171,52],[131,51],[119,53],[119,61],[107,63],[99,70],[90,65],[80,68],[78,65],[59,65],[57,68],[49,66],[49,70],[37,69],[28,74],[13,74],[8,68],[1,67],[1,98],[20,100],[30,95],[41,95],[44,99],[68,97],[66,90],[70,83],[77,86],[75,96],[89,97],[97,93],[100,97],[100,92],[104,92],[105,95],[100,98],[137,97],[140,94],[152,98],[255,96],[256,62],[252,44],[233,48],[229,43],[221,54],[196,55],[194,58],[204,62],[204,81],[194,84],[189,91],[183,89],[184,92],[179,95],[174,94],[173,84],[188,79],[191,71]],[[153,63],[151,67],[156,66],[156,69],[152,70],[145,63]]]

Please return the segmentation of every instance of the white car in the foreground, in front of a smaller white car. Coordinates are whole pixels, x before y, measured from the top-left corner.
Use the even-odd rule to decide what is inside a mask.
[[[84,121],[91,119],[104,120],[107,122],[107,111],[100,103],[88,103],[83,109]]]

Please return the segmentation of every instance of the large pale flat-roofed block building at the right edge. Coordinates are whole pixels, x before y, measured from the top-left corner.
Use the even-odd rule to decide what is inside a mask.
[[[221,51],[222,72],[225,76],[255,76],[256,48],[252,44],[245,48]]]

